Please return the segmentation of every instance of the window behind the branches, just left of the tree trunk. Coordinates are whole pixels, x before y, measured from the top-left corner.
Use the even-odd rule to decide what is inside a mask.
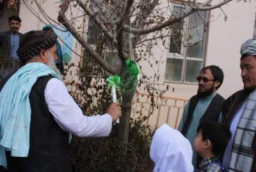
[[[110,3],[110,1],[105,0],[104,3]],[[108,8],[104,6],[104,3],[102,0],[91,1],[90,6],[92,7],[93,12],[102,15],[101,17],[104,18],[104,21],[111,25],[112,22],[115,21],[115,14],[113,14],[113,11],[108,10]],[[95,24],[90,18],[85,21],[85,25],[86,27],[84,29],[86,30],[86,40],[91,45],[91,47],[94,48],[96,52],[101,54],[105,61],[109,62],[109,64],[112,66],[122,64],[113,45],[113,41],[108,39],[104,32],[100,30],[99,26]],[[113,28],[113,30],[109,31],[115,31],[115,25],[109,28]],[[101,70],[101,73],[103,73],[104,70],[84,49],[83,57],[84,59],[80,64],[82,68],[92,68],[93,71]],[[97,75],[97,72],[93,72],[93,75]]]

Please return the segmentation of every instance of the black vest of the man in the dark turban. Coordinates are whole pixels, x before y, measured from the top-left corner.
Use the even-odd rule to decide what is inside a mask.
[[[44,90],[51,78],[52,76],[42,76],[32,87],[29,94],[31,106],[29,155],[12,157],[10,152],[6,151],[10,172],[72,171],[68,133],[56,123],[45,102]]]

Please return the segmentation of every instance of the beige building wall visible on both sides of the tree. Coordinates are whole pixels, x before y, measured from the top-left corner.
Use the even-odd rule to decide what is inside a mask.
[[[47,8],[46,8],[47,7]],[[58,3],[52,3],[52,1],[46,1],[42,4],[42,8],[47,10],[47,14],[57,21],[58,17]],[[38,8],[33,4],[34,12],[38,14],[38,17],[42,18],[46,23],[47,20],[38,13]],[[255,1],[251,3],[244,3],[236,1],[223,6],[223,11],[228,16],[227,21],[224,20],[224,15],[220,9],[211,11],[213,20],[210,24],[209,30],[209,41],[207,46],[206,54],[206,65],[216,64],[220,66],[225,73],[225,80],[220,88],[220,93],[228,97],[230,94],[239,90],[243,87],[241,78],[239,76],[239,48],[241,43],[246,39],[252,38],[253,35],[253,25],[255,18]],[[20,5],[20,18],[22,18],[21,32],[30,31],[33,29],[42,29],[44,25],[40,22],[31,11],[29,11],[24,4]],[[218,17],[221,15],[220,17]],[[168,39],[166,40],[168,41]],[[81,48],[79,45],[76,46],[74,43],[74,50],[80,52]],[[161,43],[154,46],[153,54],[154,58],[159,61],[158,66],[150,67],[148,61],[154,64],[155,61],[148,59],[146,61],[141,61],[140,65],[143,66],[142,71],[147,76],[152,76],[156,71],[160,73],[159,82],[155,82],[155,86],[163,89],[167,84],[170,85],[170,91],[166,96],[180,97],[188,99],[193,94],[196,93],[197,85],[191,84],[180,84],[180,83],[164,83],[164,71],[166,68],[166,54],[168,49],[163,47]],[[73,54],[73,61],[79,61],[79,57]],[[164,85],[162,85],[164,84]],[[172,91],[174,88],[174,92]],[[143,91],[143,89],[139,89]]]

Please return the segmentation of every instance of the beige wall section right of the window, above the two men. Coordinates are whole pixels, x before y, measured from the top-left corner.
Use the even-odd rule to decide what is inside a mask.
[[[223,15],[211,22],[206,65],[216,64],[224,71],[224,82],[220,94],[225,97],[243,88],[240,77],[240,47],[246,39],[253,37],[253,27],[256,12],[255,1],[244,3],[236,1],[223,6],[228,16],[227,21]],[[221,13],[215,10],[215,15]]]

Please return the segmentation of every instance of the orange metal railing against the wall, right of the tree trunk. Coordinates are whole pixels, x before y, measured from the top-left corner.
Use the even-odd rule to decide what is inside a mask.
[[[176,97],[149,96],[147,93],[137,92],[132,105],[132,117],[147,117],[145,124],[151,127],[156,128],[166,123],[177,129],[187,101]]]

